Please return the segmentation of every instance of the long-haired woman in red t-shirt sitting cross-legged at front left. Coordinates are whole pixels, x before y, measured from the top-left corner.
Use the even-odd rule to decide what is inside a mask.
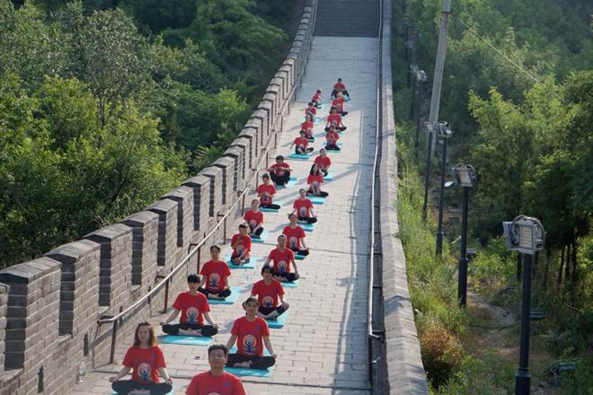
[[[173,389],[173,380],[165,368],[165,356],[158,346],[152,326],[143,321],[136,326],[134,345],[127,349],[120,372],[109,378],[111,388],[119,395],[149,393],[165,395]],[[121,380],[130,370],[132,380]],[[158,375],[165,379],[159,383]]]

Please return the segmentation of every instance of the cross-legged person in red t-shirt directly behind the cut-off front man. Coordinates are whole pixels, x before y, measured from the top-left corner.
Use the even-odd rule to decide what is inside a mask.
[[[231,349],[237,342],[237,354],[229,354],[227,366],[248,369],[267,369],[276,363],[278,355],[274,352],[270,341],[270,330],[263,318],[257,317],[259,304],[254,297],[248,297],[243,302],[246,311],[244,317],[235,320],[231,329],[231,338],[228,339],[227,348]],[[263,345],[271,357],[263,356]]]

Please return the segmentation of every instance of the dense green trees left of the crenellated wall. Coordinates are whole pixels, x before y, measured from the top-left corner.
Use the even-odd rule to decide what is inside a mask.
[[[0,0],[0,266],[142,210],[219,155],[300,4]]]

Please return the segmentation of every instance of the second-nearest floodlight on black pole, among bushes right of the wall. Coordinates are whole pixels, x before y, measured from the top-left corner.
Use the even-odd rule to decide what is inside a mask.
[[[459,306],[464,309],[467,304],[467,211],[468,193],[476,182],[477,175],[470,165],[457,165],[453,168],[453,176],[457,184],[463,187],[461,200],[461,246],[459,254],[459,277],[457,284],[457,299]]]

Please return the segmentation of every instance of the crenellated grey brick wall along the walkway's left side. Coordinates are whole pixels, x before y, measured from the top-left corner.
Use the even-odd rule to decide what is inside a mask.
[[[87,369],[109,362],[113,326],[97,320],[116,316],[161,287],[151,303],[122,317],[117,339],[126,341],[139,320],[162,310],[162,279],[189,251],[211,233],[206,247],[231,235],[234,229],[213,231],[229,210],[228,224],[240,214],[240,194],[254,184],[265,150],[282,131],[282,117],[305,72],[316,1],[307,1],[286,59],[221,158],[144,211],[0,271],[0,395],[66,393],[82,362]],[[205,261],[208,248],[201,250],[200,257],[187,259],[187,271],[195,271],[198,259]],[[186,269],[179,273],[170,283],[173,290],[184,284]]]

